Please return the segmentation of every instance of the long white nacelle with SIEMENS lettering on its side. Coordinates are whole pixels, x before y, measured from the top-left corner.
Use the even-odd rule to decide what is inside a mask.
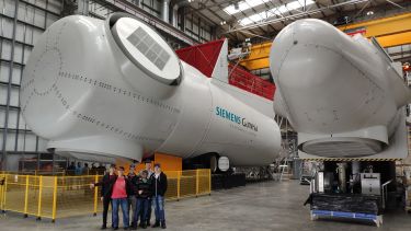
[[[54,23],[32,51],[21,89],[23,116],[47,148],[105,162],[157,151],[269,165],[279,128],[248,100],[272,111],[271,101],[206,78],[150,26],[118,13]]]

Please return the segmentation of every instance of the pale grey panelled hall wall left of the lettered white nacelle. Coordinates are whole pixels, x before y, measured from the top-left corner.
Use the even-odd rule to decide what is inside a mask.
[[[0,149],[8,155],[45,151],[46,142],[26,126],[19,90],[35,42],[60,16],[62,0],[0,0]],[[9,158],[16,168],[19,158]]]

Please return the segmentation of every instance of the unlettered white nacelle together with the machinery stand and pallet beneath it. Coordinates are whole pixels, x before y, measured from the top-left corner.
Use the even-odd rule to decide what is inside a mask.
[[[376,39],[308,19],[276,36],[270,67],[274,111],[298,131],[299,157],[323,162],[308,200],[312,218],[379,226],[387,193],[396,190],[395,160],[408,154],[403,107],[411,94],[401,65]]]

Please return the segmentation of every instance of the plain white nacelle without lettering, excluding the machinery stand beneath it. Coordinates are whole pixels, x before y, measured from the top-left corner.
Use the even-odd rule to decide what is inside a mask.
[[[277,88],[274,111],[302,135],[299,149],[315,155],[383,151],[410,102],[400,69],[376,41],[350,37],[320,20],[283,28],[270,68]]]

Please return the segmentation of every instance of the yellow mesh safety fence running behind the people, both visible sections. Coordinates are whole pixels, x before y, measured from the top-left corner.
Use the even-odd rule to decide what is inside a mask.
[[[210,195],[212,173],[209,169],[187,171],[164,171],[168,174],[169,190],[165,199],[181,199]],[[99,182],[102,175],[44,176],[0,174],[0,212],[14,211],[24,217],[35,216],[38,220],[85,215],[99,211]],[[73,209],[77,208],[77,209]]]

